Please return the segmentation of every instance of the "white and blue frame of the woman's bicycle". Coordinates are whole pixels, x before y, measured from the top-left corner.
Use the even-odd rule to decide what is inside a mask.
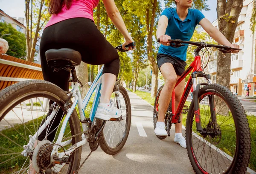
[[[65,142],[62,142],[62,139],[63,139],[63,136],[64,136],[64,132],[65,132],[65,128],[66,128],[67,122],[68,122],[71,114],[73,113],[76,105],[78,105],[78,108],[79,108],[80,121],[82,123],[82,130],[83,130],[83,132],[88,130],[89,125],[86,122],[84,122],[84,120],[86,119],[85,118],[84,110],[87,107],[87,105],[88,105],[88,103],[90,101],[90,98],[92,97],[93,92],[96,89],[96,94],[95,94],[95,97],[94,97],[94,100],[93,100],[93,105],[92,105],[92,109],[91,109],[90,116],[89,116],[90,121],[91,122],[94,121],[94,116],[95,116],[96,110],[98,108],[99,99],[100,99],[100,96],[101,96],[100,90],[101,90],[101,85],[102,85],[101,78],[102,78],[103,67],[104,67],[104,65],[100,69],[98,75],[96,76],[95,80],[93,81],[93,84],[91,84],[91,87],[88,90],[88,92],[87,92],[87,94],[86,94],[86,96],[84,97],[83,100],[81,98],[81,93],[80,93],[80,90],[79,90],[80,84],[77,83],[77,82],[74,82],[75,85],[74,85],[73,89],[71,90],[71,93],[72,93],[72,97],[74,97],[75,99],[73,101],[72,106],[67,109],[66,117],[65,117],[65,119],[63,121],[63,124],[61,126],[61,131],[60,131],[60,133],[58,135],[58,139],[55,142],[55,144],[61,145],[61,146],[71,144],[71,139],[67,140]],[[117,84],[115,85],[114,89],[115,89],[114,92],[115,92],[115,95],[116,95],[117,107],[119,107],[121,109],[120,103],[119,103],[119,88],[118,88]],[[71,95],[71,94],[69,93],[68,95]],[[42,131],[44,131],[44,129],[47,128],[47,125],[49,125],[49,122],[53,119],[55,114],[58,112],[59,108],[60,107],[58,106],[58,107],[56,107],[52,111],[51,115],[47,117],[46,122],[38,129],[38,131],[34,134],[34,136],[29,136],[29,143],[28,143],[28,145],[26,145],[26,150],[24,150],[23,153],[22,153],[24,156],[27,155],[26,154],[27,150],[33,148],[32,145],[34,145],[34,142],[38,138],[38,135],[40,135],[42,133]],[[80,146],[82,146],[84,144],[87,144],[87,137],[84,134],[82,134],[82,140],[80,142],[77,142],[76,144],[74,144],[72,147],[70,147],[65,152],[60,152],[59,153],[58,152],[58,148],[60,146],[53,146],[51,157],[53,157],[53,155],[55,155],[55,154],[57,154],[57,156],[59,158],[64,157],[65,154],[70,155],[73,151],[75,151],[77,148],[79,148]]]

